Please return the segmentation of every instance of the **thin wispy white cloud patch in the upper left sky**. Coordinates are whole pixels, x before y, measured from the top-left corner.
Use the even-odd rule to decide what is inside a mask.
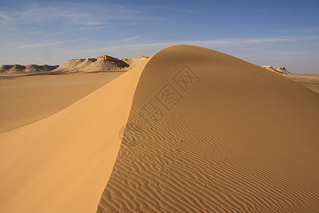
[[[59,4],[28,3],[22,9],[1,11],[0,18],[11,22],[47,23],[60,21],[64,25],[77,24],[84,26],[105,26],[113,23],[111,20],[137,20],[141,18],[136,11],[126,9],[118,4],[90,4],[60,2]]]

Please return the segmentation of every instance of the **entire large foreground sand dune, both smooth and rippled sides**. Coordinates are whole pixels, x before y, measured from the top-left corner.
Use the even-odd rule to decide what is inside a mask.
[[[166,48],[1,133],[0,212],[318,212],[318,109],[287,77]]]

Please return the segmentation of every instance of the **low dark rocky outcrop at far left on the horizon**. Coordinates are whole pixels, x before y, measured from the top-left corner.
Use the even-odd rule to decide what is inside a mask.
[[[0,73],[23,74],[23,73],[43,73],[57,69],[59,65],[2,65]]]

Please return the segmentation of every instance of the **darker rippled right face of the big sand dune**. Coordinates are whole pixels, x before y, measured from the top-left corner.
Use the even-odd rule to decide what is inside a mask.
[[[257,65],[164,49],[142,72],[98,212],[318,212],[318,109],[318,94]]]

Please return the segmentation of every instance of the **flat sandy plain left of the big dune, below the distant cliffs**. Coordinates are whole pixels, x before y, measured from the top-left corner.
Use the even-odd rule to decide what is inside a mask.
[[[0,133],[51,116],[123,73],[2,76]]]

